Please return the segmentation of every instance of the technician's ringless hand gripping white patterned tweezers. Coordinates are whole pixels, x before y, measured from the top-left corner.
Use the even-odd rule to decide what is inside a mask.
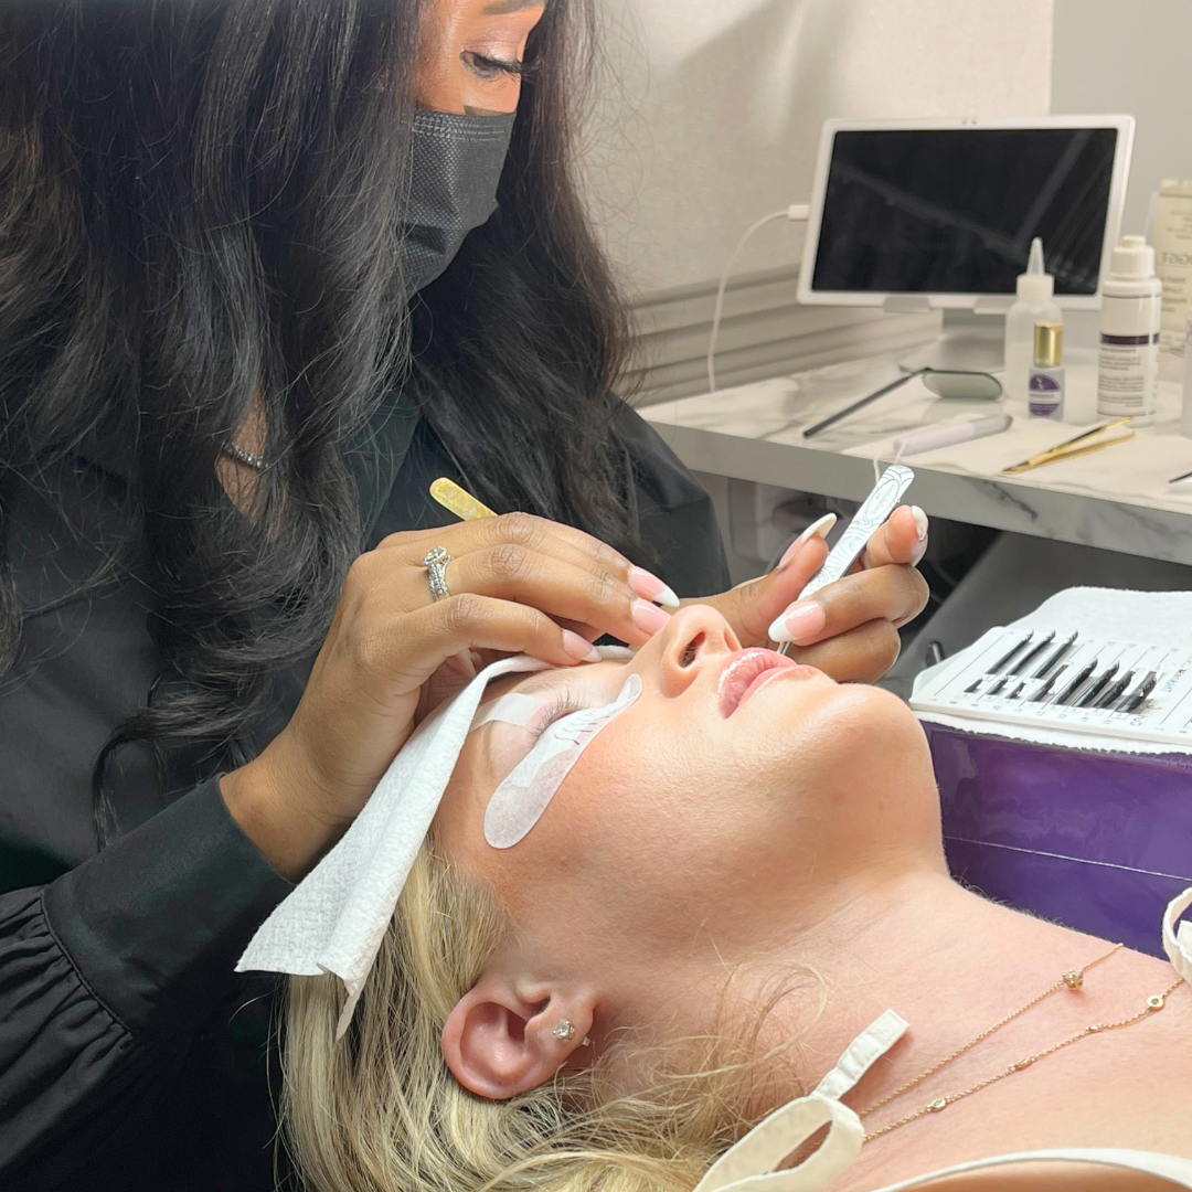
[[[927,603],[927,584],[914,570],[927,548],[927,517],[918,508],[896,509],[850,575],[799,600],[827,558],[821,535],[831,528],[817,523],[770,575],[701,603],[720,609],[745,645],[764,645],[782,617],[793,658],[842,683],[869,683],[898,660],[899,626]]]

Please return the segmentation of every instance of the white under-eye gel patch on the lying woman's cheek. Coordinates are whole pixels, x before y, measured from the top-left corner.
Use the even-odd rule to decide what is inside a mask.
[[[511,849],[523,839],[542,818],[563,780],[596,734],[640,694],[641,679],[631,675],[611,703],[582,708],[550,725],[529,753],[492,793],[484,813],[485,840],[493,849]],[[498,703],[499,700],[493,707]]]

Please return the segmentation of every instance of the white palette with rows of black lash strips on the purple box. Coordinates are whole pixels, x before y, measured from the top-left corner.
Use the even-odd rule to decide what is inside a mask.
[[[1186,648],[991,629],[956,663],[915,693],[915,710],[1185,747],[1192,740]]]

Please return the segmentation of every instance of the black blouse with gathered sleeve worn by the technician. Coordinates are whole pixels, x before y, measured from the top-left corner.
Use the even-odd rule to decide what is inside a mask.
[[[628,406],[616,433],[637,515],[681,595],[728,585],[707,495]],[[467,485],[399,402],[352,457],[370,545],[446,524],[430,480]],[[266,1192],[280,1092],[278,982],[234,973],[290,889],[228,814],[210,751],[175,758],[162,799],[148,749],[122,752],[116,831],[97,850],[91,772],[160,668],[143,566],[87,595],[98,536],[126,533],[122,464],[95,449],[58,489],[81,535],[19,496],[13,563],[24,608],[15,666],[0,676],[0,1187]],[[142,559],[143,563],[143,559]],[[306,668],[277,676],[286,724]],[[277,1166],[275,1166],[277,1165]]]

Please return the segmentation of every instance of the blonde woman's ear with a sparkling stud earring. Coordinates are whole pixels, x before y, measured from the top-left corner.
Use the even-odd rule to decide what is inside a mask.
[[[592,1028],[595,999],[545,986],[519,988],[504,974],[486,974],[447,1018],[443,1058],[471,1093],[508,1100],[545,1085]],[[555,1029],[570,1023],[572,1033]]]

